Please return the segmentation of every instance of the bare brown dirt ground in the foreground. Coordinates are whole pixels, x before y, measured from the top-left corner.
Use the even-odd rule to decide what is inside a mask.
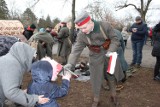
[[[152,78],[153,69],[140,68],[132,77],[123,83],[124,89],[118,93],[120,107],[160,107],[160,82]],[[25,75],[23,88],[30,81],[30,74]],[[61,83],[61,78],[57,83]],[[99,107],[113,107],[109,91],[101,90]],[[57,99],[61,107],[91,107],[92,92],[90,82],[72,79],[67,96]]]

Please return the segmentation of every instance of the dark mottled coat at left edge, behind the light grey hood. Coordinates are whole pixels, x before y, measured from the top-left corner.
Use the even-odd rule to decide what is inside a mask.
[[[14,36],[0,36],[0,56],[7,54],[11,46],[18,41]]]

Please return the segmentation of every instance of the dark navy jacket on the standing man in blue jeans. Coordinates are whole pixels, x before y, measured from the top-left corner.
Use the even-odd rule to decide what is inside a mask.
[[[132,28],[137,28],[137,32],[132,32]],[[132,41],[143,41],[145,39],[145,35],[147,33],[147,24],[145,23],[134,23],[130,29],[130,32],[132,32],[131,40]]]

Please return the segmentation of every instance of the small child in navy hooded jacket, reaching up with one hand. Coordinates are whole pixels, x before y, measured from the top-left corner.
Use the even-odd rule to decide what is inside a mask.
[[[58,86],[51,82],[53,68],[50,61],[41,60],[33,63],[31,67],[32,82],[28,86],[29,94],[44,95],[50,101],[46,104],[37,104],[35,107],[59,107],[56,98],[63,97],[68,93],[71,74],[66,72],[62,77],[62,85]],[[55,73],[54,78],[57,77]]]

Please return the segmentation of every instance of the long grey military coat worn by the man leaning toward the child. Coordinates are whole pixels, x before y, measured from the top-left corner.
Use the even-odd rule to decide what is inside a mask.
[[[91,40],[91,45],[102,45],[105,42],[105,38],[100,31],[100,26],[98,22],[94,22],[95,26],[93,31],[89,35],[84,34],[82,32],[78,33],[77,42],[75,43],[74,48],[72,48],[72,52],[69,56],[68,63],[75,65],[77,59],[79,58],[83,49],[89,44],[87,37],[88,36]],[[91,71],[91,84],[94,94],[99,95],[101,83],[104,78],[104,63],[108,58],[105,56],[107,51],[116,52],[117,48],[119,47],[120,43],[119,40],[114,33],[112,27],[106,21],[100,22],[104,31],[107,33],[108,38],[111,39],[111,44],[108,50],[101,48],[100,53],[95,53],[93,51],[89,51],[89,63],[90,63],[90,71]],[[118,71],[116,69],[116,71]],[[119,74],[118,74],[119,75]],[[122,79],[117,75],[117,80]]]

